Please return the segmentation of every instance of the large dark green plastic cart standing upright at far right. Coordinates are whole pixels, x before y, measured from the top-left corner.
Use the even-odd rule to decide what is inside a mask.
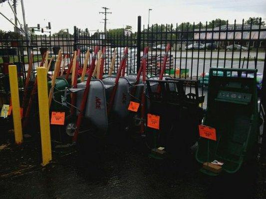
[[[203,124],[216,131],[215,139],[200,137],[198,141],[196,159],[204,164],[203,173],[233,174],[255,157],[259,133],[256,69],[210,68]]]

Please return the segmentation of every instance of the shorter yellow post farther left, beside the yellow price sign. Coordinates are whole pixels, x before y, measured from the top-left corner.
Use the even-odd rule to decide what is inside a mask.
[[[15,143],[21,144],[23,141],[23,136],[22,136],[22,126],[21,126],[21,117],[20,117],[20,105],[19,105],[19,96],[18,96],[16,65],[9,65],[8,71],[9,71],[10,93],[11,93],[11,100],[12,100]]]

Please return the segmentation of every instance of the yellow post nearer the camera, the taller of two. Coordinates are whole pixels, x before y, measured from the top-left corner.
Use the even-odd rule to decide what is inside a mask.
[[[45,67],[37,68],[37,82],[42,165],[44,166],[52,160],[48,107],[47,69]]]

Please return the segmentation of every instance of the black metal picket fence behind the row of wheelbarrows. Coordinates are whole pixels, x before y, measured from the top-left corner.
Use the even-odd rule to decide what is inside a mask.
[[[141,30],[142,29],[142,30]],[[212,26],[207,24],[155,24],[142,26],[138,17],[137,32],[120,32],[106,34],[96,32],[89,35],[74,27],[73,35],[31,35],[30,38],[0,38],[0,67],[5,74],[6,66],[3,59],[9,58],[8,63],[15,63],[21,75],[21,86],[25,80],[28,67],[29,52],[33,52],[33,70],[41,61],[41,49],[50,51],[49,58],[56,58],[58,47],[63,55],[67,55],[66,68],[74,50],[81,50],[80,65],[82,66],[87,49],[94,50],[95,46],[106,47],[104,72],[108,73],[114,48],[117,49],[115,62],[116,72],[123,55],[123,48],[129,47],[127,58],[127,74],[136,73],[141,62],[143,48],[149,46],[147,75],[158,75],[166,52],[166,45],[171,49],[166,67],[166,74],[175,78],[199,80],[202,88],[208,86],[204,77],[208,76],[210,67],[226,68],[256,68],[258,83],[262,87],[263,70],[266,54],[266,26],[261,20],[253,24],[220,23]],[[4,55],[7,55],[4,57]],[[53,67],[51,67],[51,71]],[[52,72],[50,72],[52,73]],[[265,77],[264,77],[265,79]],[[266,82],[266,81],[264,81]],[[3,84],[0,84],[1,87]],[[2,88],[0,88],[2,90]],[[203,91],[202,91],[203,94]]]

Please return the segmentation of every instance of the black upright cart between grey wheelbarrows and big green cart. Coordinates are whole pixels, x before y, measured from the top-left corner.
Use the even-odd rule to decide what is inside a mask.
[[[158,92],[160,87],[160,92]],[[159,117],[158,128],[147,121],[146,140],[152,156],[183,158],[198,139],[198,125],[203,118],[199,104],[198,82],[187,79],[147,80],[149,115]],[[148,118],[147,117],[147,118]]]

